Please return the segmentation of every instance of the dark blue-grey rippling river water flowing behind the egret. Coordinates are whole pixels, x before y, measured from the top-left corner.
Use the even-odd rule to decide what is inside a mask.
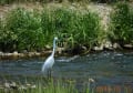
[[[41,76],[44,59],[0,61],[0,79],[11,76]],[[53,78],[74,79],[79,83],[94,79],[96,85],[133,86],[133,52],[100,52],[88,55],[58,56]]]

